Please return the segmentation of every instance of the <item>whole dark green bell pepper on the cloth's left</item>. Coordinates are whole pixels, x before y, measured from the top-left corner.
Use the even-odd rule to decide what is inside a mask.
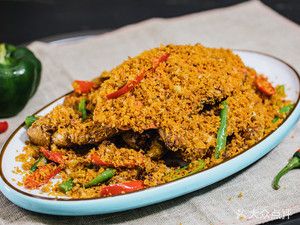
[[[0,118],[20,112],[40,83],[42,65],[25,47],[0,44]]]

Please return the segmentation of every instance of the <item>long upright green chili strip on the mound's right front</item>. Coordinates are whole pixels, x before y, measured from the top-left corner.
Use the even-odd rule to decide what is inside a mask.
[[[228,104],[227,101],[223,101],[221,103],[223,106],[221,113],[220,113],[220,118],[221,118],[221,123],[220,123],[220,128],[218,130],[217,134],[217,145],[216,145],[216,150],[215,150],[215,158],[218,159],[220,157],[221,151],[225,150],[226,147],[226,139],[227,139],[227,120],[228,120]]]

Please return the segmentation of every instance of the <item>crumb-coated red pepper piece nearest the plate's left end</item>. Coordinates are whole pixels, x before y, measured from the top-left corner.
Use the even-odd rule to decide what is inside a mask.
[[[36,189],[47,184],[49,180],[55,177],[60,171],[61,168],[56,167],[53,163],[41,166],[25,178],[24,186],[29,189]]]

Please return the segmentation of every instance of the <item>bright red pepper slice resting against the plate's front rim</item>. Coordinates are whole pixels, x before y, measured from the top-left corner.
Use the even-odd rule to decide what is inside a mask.
[[[120,184],[112,184],[101,188],[100,196],[112,196],[125,194],[137,190],[144,189],[144,182],[142,180],[127,181]]]

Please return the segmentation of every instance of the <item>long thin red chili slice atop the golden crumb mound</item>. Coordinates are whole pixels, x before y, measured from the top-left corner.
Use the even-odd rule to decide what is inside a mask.
[[[160,63],[167,61],[169,58],[170,54],[166,53],[162,55],[161,57],[154,59],[152,63],[152,69],[155,71],[155,69],[159,66]],[[110,93],[106,95],[107,99],[115,99],[118,98],[127,92],[130,92],[132,89],[134,89],[145,77],[146,71],[143,69],[141,73],[136,76],[134,80],[128,81],[127,84],[125,84],[123,87],[121,87],[119,90]]]

